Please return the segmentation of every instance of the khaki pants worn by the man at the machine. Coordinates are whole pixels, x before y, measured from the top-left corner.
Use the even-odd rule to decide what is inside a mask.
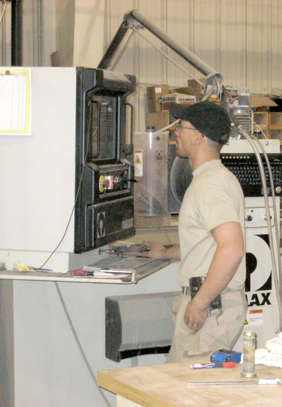
[[[221,294],[222,308],[215,309],[198,332],[184,322],[189,295],[179,295],[173,301],[175,332],[166,363],[207,359],[219,349],[231,350],[246,321],[247,301],[244,290]]]

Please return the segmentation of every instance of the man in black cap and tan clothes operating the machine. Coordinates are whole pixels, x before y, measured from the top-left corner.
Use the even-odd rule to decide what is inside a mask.
[[[143,242],[149,251],[142,253],[180,260],[178,282],[183,295],[173,303],[176,326],[169,363],[200,360],[213,351],[232,349],[247,313],[245,200],[238,180],[219,155],[230,134],[230,119],[212,102],[170,105],[170,113],[180,119],[175,126],[176,154],[188,159],[193,179],[179,211],[179,245],[166,249]],[[192,277],[205,277],[193,299]],[[208,316],[208,307],[218,295],[222,308]]]

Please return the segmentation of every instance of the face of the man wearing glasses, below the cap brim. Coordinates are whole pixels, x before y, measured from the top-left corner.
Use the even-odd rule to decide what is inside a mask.
[[[181,158],[189,158],[193,151],[193,141],[197,130],[186,120],[179,121],[179,129],[175,130],[176,134],[176,155]]]

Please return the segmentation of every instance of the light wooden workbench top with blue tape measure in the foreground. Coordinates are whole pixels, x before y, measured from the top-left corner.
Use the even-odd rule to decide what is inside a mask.
[[[196,363],[196,362],[193,362]],[[282,406],[281,384],[187,386],[187,382],[252,381],[233,369],[190,368],[189,362],[98,371],[98,385],[117,395],[117,407]],[[258,377],[282,379],[282,369],[255,367]]]

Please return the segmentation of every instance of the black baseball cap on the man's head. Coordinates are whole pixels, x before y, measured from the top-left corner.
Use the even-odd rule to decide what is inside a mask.
[[[209,139],[224,144],[231,131],[231,121],[227,111],[213,102],[197,102],[190,106],[178,103],[169,104],[170,113],[176,118],[189,121]]]

